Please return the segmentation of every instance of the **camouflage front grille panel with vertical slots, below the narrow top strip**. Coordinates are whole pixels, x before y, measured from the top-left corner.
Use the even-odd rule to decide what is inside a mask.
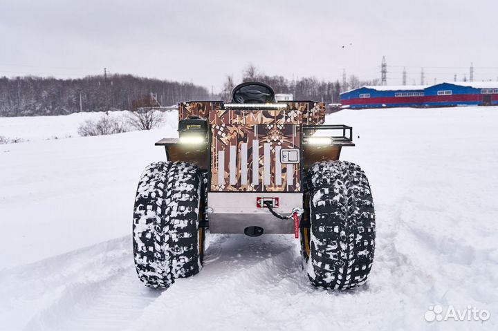
[[[281,164],[281,149],[299,149],[291,124],[212,124],[212,191],[301,190],[299,164]]]

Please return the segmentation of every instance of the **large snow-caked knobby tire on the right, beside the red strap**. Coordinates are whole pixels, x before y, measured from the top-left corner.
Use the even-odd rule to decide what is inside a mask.
[[[308,171],[309,219],[301,229],[311,283],[334,290],[367,281],[374,261],[375,211],[367,176],[351,162],[326,161]]]

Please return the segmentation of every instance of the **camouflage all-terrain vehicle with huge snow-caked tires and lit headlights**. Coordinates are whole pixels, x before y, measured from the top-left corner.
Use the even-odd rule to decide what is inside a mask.
[[[311,283],[365,283],[374,203],[362,169],[338,160],[354,146],[350,126],[324,125],[324,103],[276,102],[257,82],[234,88],[230,103],[182,102],[178,114],[179,138],[156,142],[167,161],[145,169],[136,194],[133,254],[145,285],[197,274],[206,229],[294,234]]]

